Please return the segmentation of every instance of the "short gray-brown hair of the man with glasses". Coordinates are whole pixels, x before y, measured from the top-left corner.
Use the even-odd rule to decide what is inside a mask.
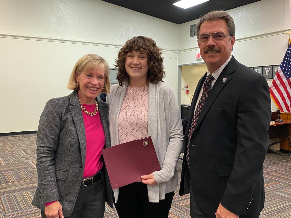
[[[236,25],[234,24],[234,21],[232,17],[229,15],[229,13],[225,11],[212,11],[212,12],[207,13],[203,17],[201,17],[199,22],[196,24],[197,38],[199,36],[199,30],[200,30],[201,24],[204,21],[212,21],[212,20],[218,20],[218,19],[222,19],[226,22],[229,35],[234,36],[236,33]]]

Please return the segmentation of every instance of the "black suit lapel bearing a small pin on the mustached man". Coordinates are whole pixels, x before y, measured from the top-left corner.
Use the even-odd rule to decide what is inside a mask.
[[[196,123],[194,131],[197,129],[199,124],[202,122],[203,118],[205,117],[205,115],[209,111],[211,105],[215,101],[215,99],[218,96],[218,94],[220,93],[220,91],[232,79],[229,74],[233,73],[236,70],[237,64],[238,64],[238,62],[232,56],[229,63],[226,65],[226,67],[220,73],[219,77],[217,78],[216,82],[214,83],[214,85],[213,85],[211,91],[209,92],[209,95],[204,103],[204,106],[203,106],[202,111],[198,117],[198,121]]]

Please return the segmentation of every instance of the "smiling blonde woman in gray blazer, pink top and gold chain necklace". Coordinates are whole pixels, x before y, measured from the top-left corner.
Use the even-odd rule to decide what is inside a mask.
[[[110,147],[108,105],[96,98],[109,92],[108,74],[102,57],[87,54],[73,68],[68,88],[74,91],[45,105],[37,131],[38,187],[32,200],[43,218],[97,218],[104,216],[105,200],[113,207],[101,156],[101,149]]]

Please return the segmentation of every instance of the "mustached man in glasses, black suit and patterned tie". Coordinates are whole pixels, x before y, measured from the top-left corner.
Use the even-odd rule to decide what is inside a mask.
[[[235,24],[227,12],[209,12],[196,27],[207,72],[183,120],[180,195],[190,193],[191,218],[257,218],[264,206],[268,84],[231,55]]]

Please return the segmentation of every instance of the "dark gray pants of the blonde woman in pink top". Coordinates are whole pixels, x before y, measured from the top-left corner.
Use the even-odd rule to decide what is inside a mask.
[[[104,177],[89,186],[81,186],[78,197],[69,218],[103,218],[105,211]],[[46,218],[41,211],[42,218]],[[67,217],[65,217],[67,218]]]

